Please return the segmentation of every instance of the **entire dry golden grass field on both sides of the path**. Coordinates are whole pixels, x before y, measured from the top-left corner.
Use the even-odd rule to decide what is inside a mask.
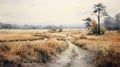
[[[120,67],[120,33],[115,31],[98,36],[81,30],[0,30],[0,63],[46,63],[68,47],[66,38],[93,52],[95,67]]]

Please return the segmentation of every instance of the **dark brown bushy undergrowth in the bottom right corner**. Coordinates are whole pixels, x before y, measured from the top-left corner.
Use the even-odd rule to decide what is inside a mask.
[[[119,48],[118,48],[119,49]],[[120,67],[120,52],[116,48],[99,51],[95,60],[95,67]]]

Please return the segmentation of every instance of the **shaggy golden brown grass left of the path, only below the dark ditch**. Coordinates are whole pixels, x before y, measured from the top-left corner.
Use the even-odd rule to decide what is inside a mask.
[[[6,42],[0,43],[0,55],[13,62],[46,62],[66,47],[66,42],[57,40]]]

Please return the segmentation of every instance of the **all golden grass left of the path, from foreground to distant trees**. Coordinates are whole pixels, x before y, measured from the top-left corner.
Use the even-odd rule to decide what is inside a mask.
[[[64,40],[57,40],[57,35],[49,32],[16,31],[0,31],[0,62],[2,63],[6,61],[46,63],[51,57],[67,48]]]

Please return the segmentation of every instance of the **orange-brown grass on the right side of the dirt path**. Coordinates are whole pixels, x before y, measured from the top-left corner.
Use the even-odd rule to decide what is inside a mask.
[[[95,67],[120,67],[120,33],[107,32],[100,36],[84,35],[86,38],[80,37],[71,38],[71,42],[94,52]]]

